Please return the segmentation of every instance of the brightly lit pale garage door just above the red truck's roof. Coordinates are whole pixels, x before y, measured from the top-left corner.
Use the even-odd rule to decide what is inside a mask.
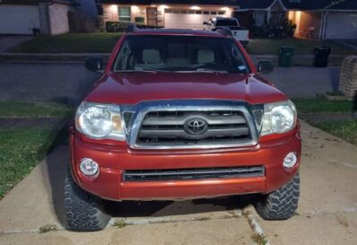
[[[186,11],[165,13],[165,28],[203,30],[204,22],[208,22],[213,17],[217,17],[217,13],[211,13],[212,12],[205,11],[196,13],[189,13],[189,11],[187,11],[187,13]]]

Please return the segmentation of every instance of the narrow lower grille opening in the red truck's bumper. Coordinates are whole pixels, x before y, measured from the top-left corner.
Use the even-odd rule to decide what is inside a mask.
[[[232,179],[262,177],[263,166],[220,167],[200,169],[141,170],[124,171],[124,181],[191,180],[191,179]]]

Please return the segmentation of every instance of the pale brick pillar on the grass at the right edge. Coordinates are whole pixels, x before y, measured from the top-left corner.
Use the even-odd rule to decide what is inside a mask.
[[[352,100],[357,92],[357,56],[345,57],[341,67],[339,91]]]

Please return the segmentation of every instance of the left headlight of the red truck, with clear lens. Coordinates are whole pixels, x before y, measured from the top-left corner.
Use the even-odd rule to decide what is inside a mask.
[[[75,115],[75,127],[92,138],[125,139],[120,107],[83,102]]]

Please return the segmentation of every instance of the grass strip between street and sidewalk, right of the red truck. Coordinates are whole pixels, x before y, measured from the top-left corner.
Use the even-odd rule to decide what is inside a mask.
[[[327,101],[322,96],[315,99],[294,99],[292,100],[299,113],[319,113],[319,112],[351,112],[352,101]]]

